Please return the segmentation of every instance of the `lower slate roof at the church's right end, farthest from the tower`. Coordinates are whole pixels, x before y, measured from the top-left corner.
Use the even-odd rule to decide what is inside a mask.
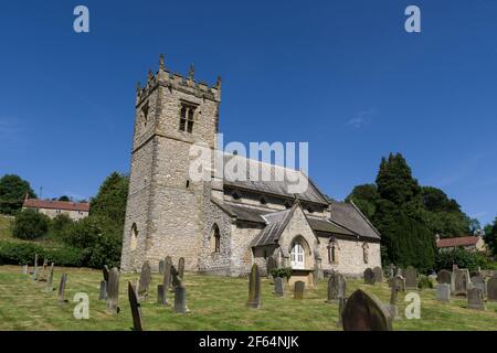
[[[380,239],[380,233],[353,203],[330,202],[330,221],[355,234]]]

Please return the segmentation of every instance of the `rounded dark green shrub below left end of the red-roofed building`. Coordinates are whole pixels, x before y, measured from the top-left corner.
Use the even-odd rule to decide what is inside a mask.
[[[34,239],[46,235],[50,218],[34,210],[21,211],[14,221],[12,235],[21,239]]]

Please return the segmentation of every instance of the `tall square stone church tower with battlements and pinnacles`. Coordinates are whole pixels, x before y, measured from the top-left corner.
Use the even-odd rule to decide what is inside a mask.
[[[131,171],[123,237],[121,268],[154,267],[171,256],[184,257],[195,270],[203,234],[204,183],[189,178],[190,147],[216,147],[221,81],[194,81],[193,66],[183,78],[170,74],[163,55],[159,71],[148,72],[136,93]]]

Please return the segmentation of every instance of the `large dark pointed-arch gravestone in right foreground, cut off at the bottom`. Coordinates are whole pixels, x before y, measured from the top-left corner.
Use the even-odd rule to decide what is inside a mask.
[[[345,331],[391,331],[389,313],[380,300],[361,289],[356,290],[343,308]]]

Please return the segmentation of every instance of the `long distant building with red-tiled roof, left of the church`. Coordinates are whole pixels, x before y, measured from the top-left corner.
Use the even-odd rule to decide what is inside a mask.
[[[22,208],[38,210],[51,218],[55,218],[60,214],[65,214],[74,221],[87,217],[89,214],[89,203],[71,201],[25,199]]]

